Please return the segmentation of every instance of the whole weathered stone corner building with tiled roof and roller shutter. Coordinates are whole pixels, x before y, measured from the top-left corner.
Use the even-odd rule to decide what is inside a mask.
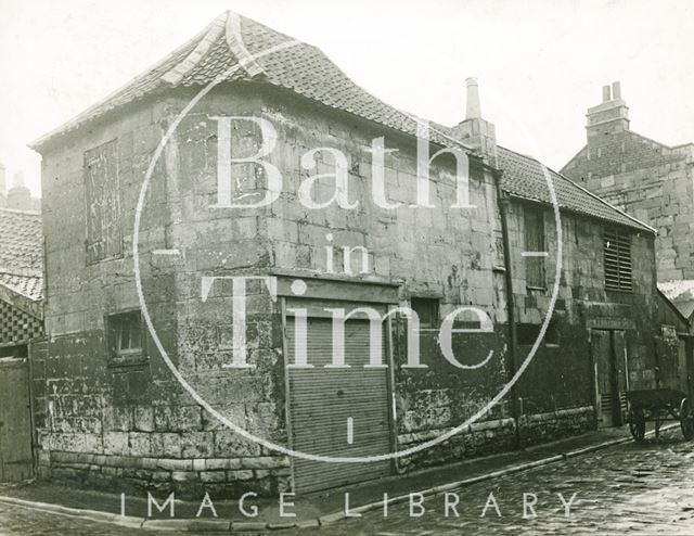
[[[224,13],[34,144],[43,158],[47,263],[48,354],[34,367],[42,476],[192,495],[306,493],[618,424],[627,390],[656,381],[689,388],[678,360],[687,358],[678,336],[689,327],[656,290],[653,228],[551,173],[562,216],[558,298],[528,365],[557,266],[541,164],[497,145],[471,79],[466,119],[430,126],[424,145],[449,152],[433,159],[428,180],[417,179],[422,122],[365,92],[319,49],[282,44],[290,40]],[[275,136],[240,117],[267,120]],[[384,156],[376,204],[372,140],[380,138],[397,152]],[[230,148],[252,156],[269,139],[274,146],[262,159],[281,171],[281,191],[266,164],[226,164]],[[474,208],[452,207],[463,154]],[[336,176],[348,179],[339,189]],[[300,189],[324,207],[308,207]],[[408,206],[422,189],[434,207]],[[336,194],[358,206],[331,203]],[[256,207],[266,195],[277,199]],[[267,282],[252,281],[241,310],[224,279],[240,276],[272,278],[277,298]],[[401,306],[417,315],[415,339],[402,311],[382,333],[370,330],[364,307],[385,315]],[[464,370],[438,344],[442,320],[463,306],[486,315],[454,322],[477,330],[452,335],[458,363],[480,365]],[[340,336],[336,309],[354,314],[342,329],[349,368],[324,368]],[[253,368],[228,367],[240,355],[234,328]],[[386,368],[363,367],[373,333]],[[416,341],[426,368],[407,367]],[[303,358],[313,368],[290,366]],[[290,457],[201,405],[301,452],[384,455],[462,424],[526,366],[478,422],[395,462]]]

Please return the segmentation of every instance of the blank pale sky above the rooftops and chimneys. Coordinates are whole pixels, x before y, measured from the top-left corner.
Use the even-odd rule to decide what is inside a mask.
[[[224,10],[320,47],[391,105],[446,125],[479,80],[498,142],[561,168],[586,110],[621,81],[631,129],[694,141],[690,0],[0,0],[0,162],[40,194],[27,144],[124,85]]]

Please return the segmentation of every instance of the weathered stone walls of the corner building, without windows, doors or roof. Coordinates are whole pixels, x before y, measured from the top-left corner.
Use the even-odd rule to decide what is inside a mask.
[[[48,355],[36,360],[37,420],[42,474],[94,486],[176,489],[197,495],[203,488],[237,496],[244,490],[277,495],[291,486],[291,460],[242,438],[218,422],[174,377],[146,336],[146,359],[128,365],[108,360],[104,317],[140,307],[133,277],[134,206],[157,143],[191,94],[176,93],[142,102],[106,117],[90,130],[69,135],[43,154],[43,218],[47,235]],[[279,200],[264,208],[214,207],[217,189],[217,123],[210,116],[259,114],[278,131],[267,159],[284,177]],[[249,154],[261,145],[250,122],[236,122],[233,146]],[[461,424],[509,380],[509,327],[504,290],[500,213],[491,173],[473,166],[472,203],[452,209],[452,159],[433,165],[432,200],[436,208],[395,209],[371,201],[373,138],[385,136],[398,149],[386,157],[387,197],[412,203],[415,196],[415,145],[395,131],[384,132],[348,114],[257,87],[218,88],[181,122],[154,168],[144,196],[140,230],[143,295],[158,343],[189,385],[223,418],[265,439],[287,443],[282,355],[282,318],[267,285],[248,285],[246,322],[249,363],[228,369],[233,359],[232,289],[219,280],[202,299],[204,277],[265,275],[322,277],[329,271],[325,246],[363,246],[368,273],[344,273],[338,256],[332,278],[384,281],[399,285],[400,305],[412,296],[436,297],[440,316],[461,305],[484,309],[493,332],[457,336],[455,355],[476,363],[493,350],[479,370],[454,369],[433,347],[423,358],[426,372],[407,370],[401,322],[395,322],[397,437],[400,447],[430,439]],[[85,247],[83,155],[116,140],[121,205],[123,254],[88,261]],[[310,149],[332,146],[347,155],[350,197],[359,208],[310,210],[297,202],[299,181],[335,170],[335,161],[319,154],[316,167],[300,165]],[[253,164],[234,165],[240,199],[268,191],[267,175]],[[330,195],[319,179],[317,195]],[[257,199],[257,197],[256,197]],[[325,197],[320,197],[325,199]],[[510,215],[516,316],[539,324],[549,291],[525,284],[520,203]],[[545,221],[552,221],[548,208]],[[542,344],[519,384],[481,422],[421,456],[402,460],[412,470],[461,457],[512,448],[516,442],[513,404],[523,399],[519,432],[524,443],[547,441],[591,427],[592,369],[588,359],[591,326],[609,324],[611,316],[629,319],[630,358],[647,381],[653,345],[648,326],[655,292],[652,238],[638,235],[634,293],[604,290],[602,224],[564,215],[564,269],[555,312],[558,344]],[[548,225],[548,248],[553,234]],[[162,252],[165,252],[164,254]],[[552,258],[547,260],[548,289]],[[342,272],[342,273],[340,273]],[[633,335],[633,336],[631,336]],[[428,343],[435,342],[429,337]],[[528,348],[516,356],[515,366]],[[634,377],[637,378],[637,377]],[[527,431],[527,434],[524,432]]]

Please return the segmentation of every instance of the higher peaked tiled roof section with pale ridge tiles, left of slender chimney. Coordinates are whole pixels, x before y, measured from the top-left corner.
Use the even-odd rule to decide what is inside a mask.
[[[146,94],[180,86],[206,86],[234,66],[239,68],[228,74],[227,80],[270,84],[388,128],[416,135],[414,116],[359,87],[320,49],[250,18],[226,12],[146,73],[37,140],[33,146],[40,149],[54,137]],[[460,140],[434,130],[430,139],[442,145],[470,149]]]

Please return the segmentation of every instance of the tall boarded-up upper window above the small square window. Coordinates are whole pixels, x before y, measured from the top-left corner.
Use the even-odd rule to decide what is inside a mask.
[[[85,153],[87,263],[123,252],[118,148],[116,140]]]

